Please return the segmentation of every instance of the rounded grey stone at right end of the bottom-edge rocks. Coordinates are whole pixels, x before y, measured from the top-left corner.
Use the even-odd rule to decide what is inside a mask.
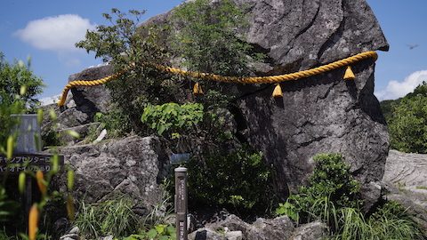
[[[327,236],[327,226],[321,221],[313,221],[295,229],[292,240],[320,240]]]

